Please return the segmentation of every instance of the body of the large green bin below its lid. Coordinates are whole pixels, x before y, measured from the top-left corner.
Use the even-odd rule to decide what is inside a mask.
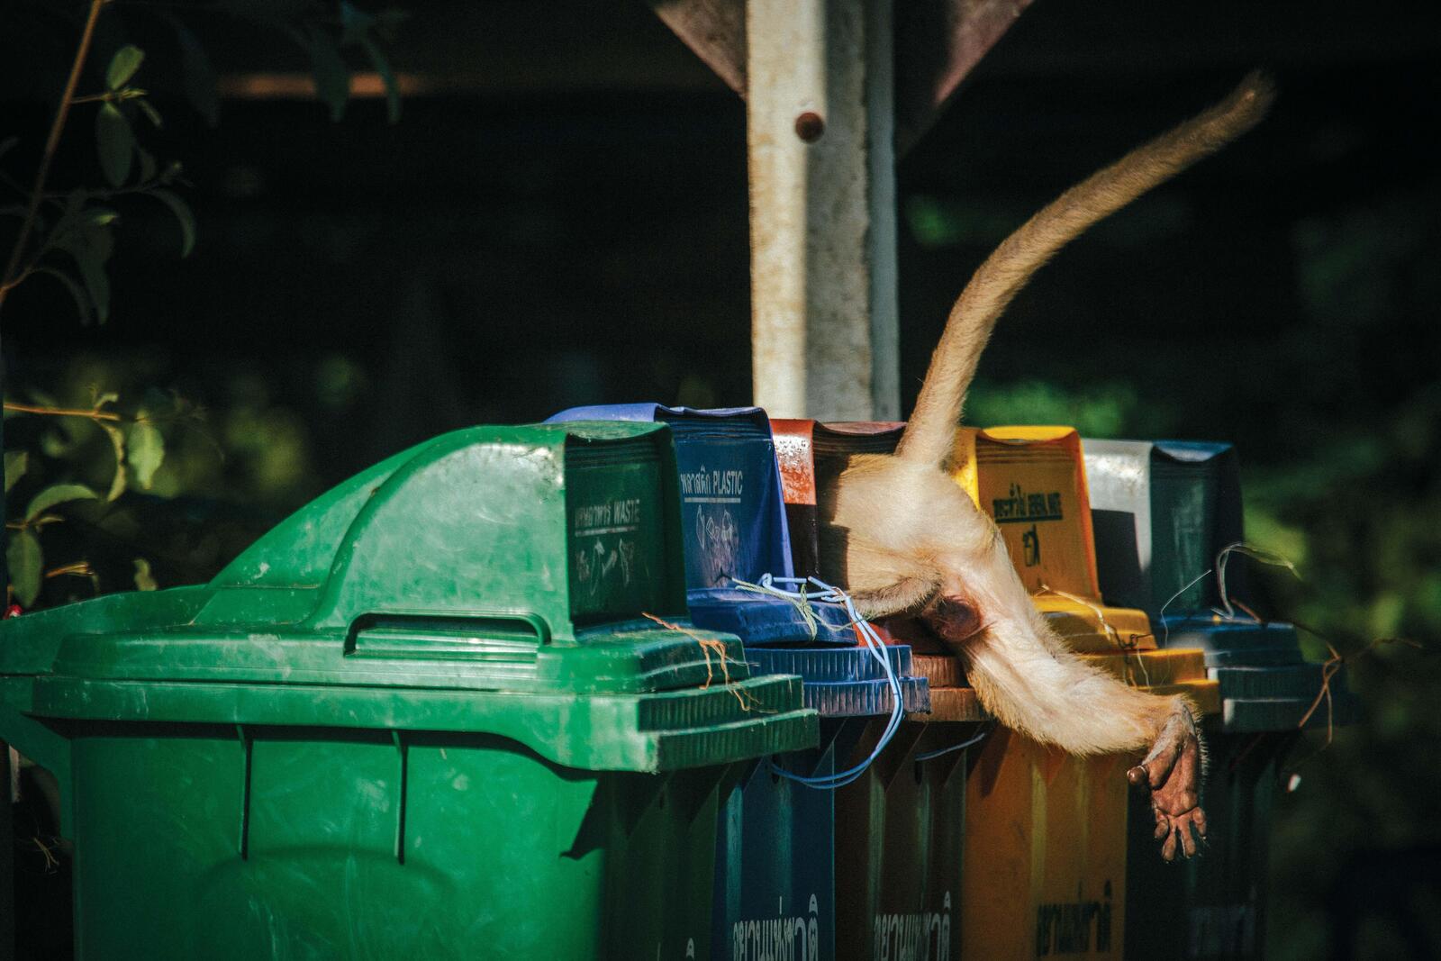
[[[478,735],[251,733],[76,736],[79,958],[684,958],[706,944],[725,768],[586,772]]]

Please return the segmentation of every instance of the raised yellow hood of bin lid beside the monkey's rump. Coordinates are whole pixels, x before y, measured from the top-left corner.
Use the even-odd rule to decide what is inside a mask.
[[[1072,650],[1156,648],[1144,611],[1101,602],[1075,428],[958,428],[953,464],[955,483],[1000,527],[1036,608]]]

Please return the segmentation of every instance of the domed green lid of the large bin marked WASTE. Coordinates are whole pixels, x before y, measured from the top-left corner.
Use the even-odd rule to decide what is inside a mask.
[[[752,679],[739,640],[692,627],[684,596],[664,425],[477,426],[336,487],[209,585],[4,621],[0,702],[45,719],[476,730],[585,768],[814,743],[800,681]]]

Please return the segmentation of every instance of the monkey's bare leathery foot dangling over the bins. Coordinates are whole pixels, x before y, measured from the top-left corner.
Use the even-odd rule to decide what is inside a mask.
[[[1206,813],[1200,810],[1200,738],[1196,722],[1182,706],[1167,718],[1160,736],[1137,766],[1125,772],[1127,781],[1151,794],[1156,814],[1156,840],[1163,840],[1161,857],[1176,860],[1176,850],[1190,857],[1196,840],[1206,839]],[[1195,831],[1195,834],[1193,834]]]

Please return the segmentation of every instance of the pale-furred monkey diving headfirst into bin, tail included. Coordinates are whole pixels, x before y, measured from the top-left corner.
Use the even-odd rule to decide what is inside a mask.
[[[922,617],[963,657],[981,703],[1003,725],[1078,754],[1151,746],[1133,784],[1151,790],[1170,860],[1205,836],[1203,754],[1192,706],[1136,690],[1056,637],[1012,566],[996,524],[950,477],[955,428],[1001,311],[1072,238],[1254,127],[1272,98],[1251,75],[1221,104],[1066,190],[981,264],[931,357],[893,455],[850,458],[820,480],[821,573],[866,617]]]

